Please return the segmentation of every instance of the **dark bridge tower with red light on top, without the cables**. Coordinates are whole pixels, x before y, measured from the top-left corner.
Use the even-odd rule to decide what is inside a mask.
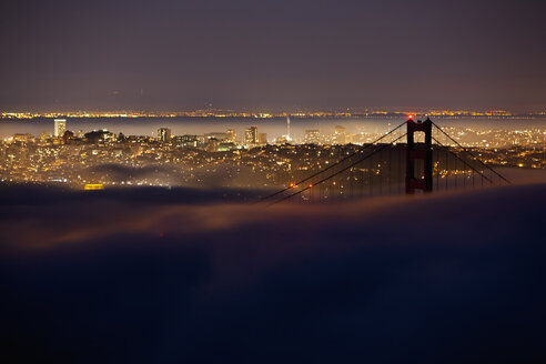
[[[433,156],[432,156],[432,121],[407,120],[407,150],[406,150],[406,194],[414,194],[415,190],[432,192],[433,190]],[[425,142],[414,141],[415,132],[425,133]],[[415,176],[415,161],[424,162],[423,178]]]

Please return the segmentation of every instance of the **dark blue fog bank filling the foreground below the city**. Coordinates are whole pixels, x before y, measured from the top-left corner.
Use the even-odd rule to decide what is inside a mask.
[[[544,184],[274,209],[48,193],[0,208],[2,363],[546,362]]]

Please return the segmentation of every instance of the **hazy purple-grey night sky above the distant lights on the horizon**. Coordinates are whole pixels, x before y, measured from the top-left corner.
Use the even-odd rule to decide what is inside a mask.
[[[0,4],[0,110],[546,109],[546,2]]]

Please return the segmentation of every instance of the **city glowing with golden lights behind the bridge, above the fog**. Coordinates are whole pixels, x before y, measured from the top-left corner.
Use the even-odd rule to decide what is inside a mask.
[[[412,118],[408,122],[413,122]],[[309,124],[291,125],[289,117],[284,125],[276,129],[243,122],[236,127],[215,124],[214,129],[209,127],[200,132],[193,129],[194,133],[180,127],[178,131],[173,130],[162,122],[155,125],[156,130],[149,130],[145,134],[131,133],[127,124],[119,125],[121,129],[117,132],[97,128],[73,129],[71,127],[83,125],[75,121],[67,124],[65,119],[54,119],[48,124],[52,132],[41,131],[36,136],[16,133],[0,141],[2,183],[53,183],[92,191],[134,185],[199,188],[215,183],[230,188],[283,188],[290,181],[317,173],[324,165],[335,165],[336,160],[342,161],[344,155],[368,148],[391,134],[388,129],[395,128],[386,123],[383,128],[387,129],[382,130],[376,124],[358,132],[354,124],[345,128],[343,120],[336,120],[330,128],[312,129]],[[435,153],[439,153],[441,148],[453,148],[458,153],[468,148],[487,163],[484,165],[505,171],[523,169],[540,173],[546,168],[544,128],[527,124],[505,130],[453,125],[444,127],[443,132],[447,134],[434,136],[437,144]],[[397,135],[400,138],[391,141],[390,158],[392,153],[401,155],[406,148],[405,140],[402,140],[402,146],[400,144],[403,135]],[[446,139],[446,135],[456,140]],[[376,170],[387,174],[393,170],[391,166],[385,170],[387,160],[384,155],[383,162],[360,171],[370,173]],[[463,183],[472,181],[474,184],[473,174],[469,174],[473,170],[457,168],[457,160],[448,163],[437,158],[436,163],[435,173],[444,181],[459,179]],[[441,163],[444,164],[442,169]],[[398,156],[394,170],[400,171],[401,165],[402,156]],[[400,180],[401,173],[396,178]],[[362,175],[353,180],[361,188],[367,181]],[[348,181],[341,180],[338,185],[354,190]]]

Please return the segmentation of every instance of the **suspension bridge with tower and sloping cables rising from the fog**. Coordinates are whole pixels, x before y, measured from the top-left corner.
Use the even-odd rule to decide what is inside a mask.
[[[410,118],[372,143],[300,181],[289,182],[259,202],[322,203],[509,183],[431,119]]]

